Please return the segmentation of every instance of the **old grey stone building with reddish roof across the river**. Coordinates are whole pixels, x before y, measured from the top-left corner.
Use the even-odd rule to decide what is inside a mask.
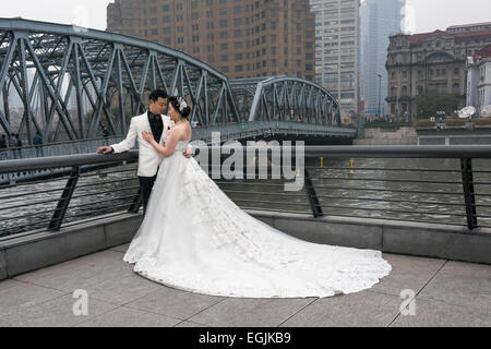
[[[430,89],[464,97],[466,59],[490,44],[491,29],[392,36],[386,60],[391,117],[415,121],[416,98]]]

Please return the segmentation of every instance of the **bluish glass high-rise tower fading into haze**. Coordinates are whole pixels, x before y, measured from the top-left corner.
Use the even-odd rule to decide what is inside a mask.
[[[405,0],[363,0],[360,4],[360,100],[366,115],[388,113],[385,61],[390,36],[402,32]]]

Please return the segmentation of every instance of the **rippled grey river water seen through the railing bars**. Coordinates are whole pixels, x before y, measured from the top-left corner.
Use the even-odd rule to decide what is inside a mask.
[[[491,161],[472,166],[479,225],[491,226]],[[325,215],[466,225],[458,159],[362,158],[354,159],[352,173],[350,167],[348,158],[307,161]],[[285,192],[284,182],[218,181],[243,208],[311,213],[306,192]],[[65,183],[61,178],[0,189],[0,237],[46,228]],[[137,188],[134,164],[83,173],[64,221],[125,210]]]

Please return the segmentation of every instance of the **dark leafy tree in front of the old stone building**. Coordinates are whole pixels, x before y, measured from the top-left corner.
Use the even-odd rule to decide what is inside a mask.
[[[436,117],[436,111],[445,111],[445,115],[450,116],[454,113],[455,110],[460,109],[464,105],[465,97],[440,93],[435,89],[430,89],[427,94],[416,97],[418,119]]]

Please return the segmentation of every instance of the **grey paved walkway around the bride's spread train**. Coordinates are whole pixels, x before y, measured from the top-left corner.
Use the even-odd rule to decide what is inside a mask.
[[[122,262],[128,245],[0,282],[0,327],[491,327],[491,266],[384,254],[391,275],[372,289],[326,299],[235,299],[175,290]],[[88,315],[74,315],[88,294]],[[403,290],[416,294],[403,315]],[[409,293],[410,294],[410,291]],[[79,302],[79,303],[76,303]],[[75,306],[74,306],[75,304]],[[407,308],[411,309],[411,305]]]

